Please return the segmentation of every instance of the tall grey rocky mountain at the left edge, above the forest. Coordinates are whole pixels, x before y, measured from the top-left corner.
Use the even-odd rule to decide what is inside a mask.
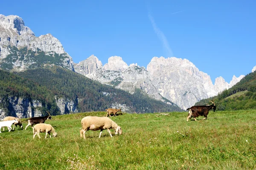
[[[1,68],[21,71],[44,64],[74,70],[72,58],[57,38],[51,34],[36,37],[21,17],[0,14]]]

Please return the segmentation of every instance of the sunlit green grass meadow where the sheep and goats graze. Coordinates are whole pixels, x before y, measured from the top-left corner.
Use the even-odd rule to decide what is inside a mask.
[[[6,170],[240,170],[256,169],[256,110],[209,112],[186,122],[187,112],[111,117],[122,135],[87,131],[87,112],[53,116],[56,138],[32,139],[32,128],[0,134],[0,169]],[[26,122],[23,122],[26,126]]]

